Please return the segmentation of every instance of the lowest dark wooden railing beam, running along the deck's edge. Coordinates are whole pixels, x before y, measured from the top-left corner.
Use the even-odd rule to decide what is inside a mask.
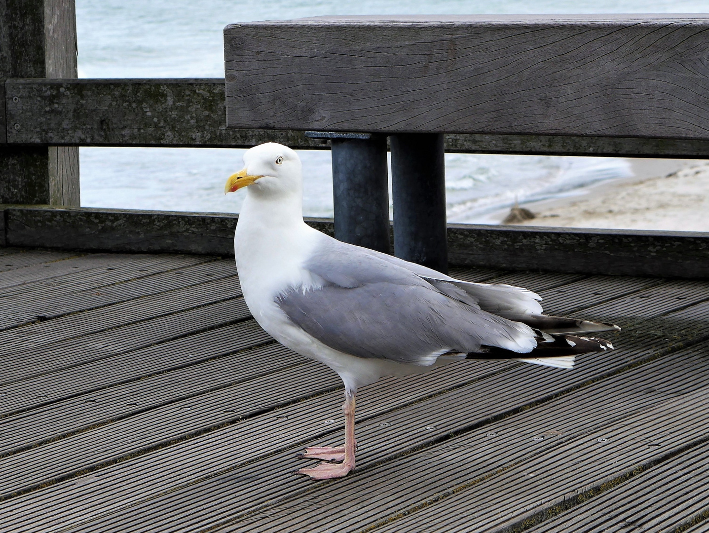
[[[223,213],[41,206],[0,206],[0,212],[7,246],[223,256],[234,253],[238,220]],[[334,233],[332,220],[308,223]],[[461,267],[709,279],[709,233],[449,224],[448,257]]]

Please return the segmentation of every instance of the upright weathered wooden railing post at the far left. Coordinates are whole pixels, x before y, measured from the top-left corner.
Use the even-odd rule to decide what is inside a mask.
[[[74,0],[0,3],[0,78],[43,77],[77,77]],[[0,146],[0,203],[79,206],[79,148]]]

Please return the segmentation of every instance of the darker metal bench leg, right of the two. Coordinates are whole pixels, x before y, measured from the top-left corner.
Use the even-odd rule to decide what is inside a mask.
[[[389,137],[394,211],[394,254],[447,273],[443,135]]]

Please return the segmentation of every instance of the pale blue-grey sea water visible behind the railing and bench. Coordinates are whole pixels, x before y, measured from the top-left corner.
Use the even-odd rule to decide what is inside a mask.
[[[228,23],[321,15],[475,13],[700,13],[674,0],[77,0],[79,77],[223,77]],[[82,206],[238,213],[223,194],[244,150],[82,147]],[[330,152],[303,150],[303,210],[333,214]],[[447,154],[450,222],[498,223],[515,201],[555,198],[632,176],[627,159]],[[390,172],[391,175],[391,172]],[[391,197],[391,195],[390,195]]]

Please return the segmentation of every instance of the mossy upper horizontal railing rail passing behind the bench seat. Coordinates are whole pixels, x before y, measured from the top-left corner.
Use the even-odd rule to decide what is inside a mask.
[[[223,79],[7,79],[0,84],[0,145],[243,148],[262,142],[302,150],[330,142],[301,130],[227,128]],[[3,120],[5,114],[5,120]],[[446,152],[709,157],[709,140],[569,135],[444,135]]]

